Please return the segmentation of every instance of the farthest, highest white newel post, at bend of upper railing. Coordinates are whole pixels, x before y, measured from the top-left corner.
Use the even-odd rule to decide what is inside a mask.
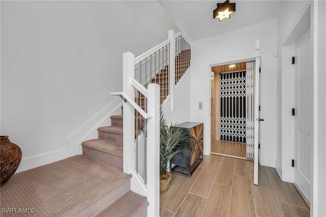
[[[169,77],[170,77],[170,83],[169,83],[169,91],[171,95],[171,111],[174,111],[174,88],[175,88],[175,32],[174,30],[169,31],[169,39],[171,39],[170,43],[170,66],[169,66]]]

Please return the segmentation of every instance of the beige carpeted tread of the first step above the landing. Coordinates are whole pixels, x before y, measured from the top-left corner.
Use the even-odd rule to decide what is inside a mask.
[[[82,142],[82,146],[101,151],[107,154],[115,155],[118,157],[123,157],[123,146],[122,144],[95,139],[95,140],[87,140]]]

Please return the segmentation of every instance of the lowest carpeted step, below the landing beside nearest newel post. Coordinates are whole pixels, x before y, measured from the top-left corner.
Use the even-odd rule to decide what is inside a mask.
[[[97,217],[106,216],[141,216],[149,203],[146,198],[134,192],[128,192],[111,206],[104,209]]]

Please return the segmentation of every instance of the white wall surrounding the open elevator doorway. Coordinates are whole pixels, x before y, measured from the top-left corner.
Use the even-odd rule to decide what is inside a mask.
[[[210,150],[210,65],[255,57],[255,41],[260,40],[261,53],[261,165],[275,167],[276,160],[276,87],[277,20],[216,35],[192,43],[192,121],[204,123],[204,154]],[[200,110],[198,103],[203,102]]]

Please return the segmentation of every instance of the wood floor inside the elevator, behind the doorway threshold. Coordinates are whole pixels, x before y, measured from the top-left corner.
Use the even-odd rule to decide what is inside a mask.
[[[244,143],[234,143],[220,140],[211,142],[211,152],[223,155],[246,158],[247,146]]]

